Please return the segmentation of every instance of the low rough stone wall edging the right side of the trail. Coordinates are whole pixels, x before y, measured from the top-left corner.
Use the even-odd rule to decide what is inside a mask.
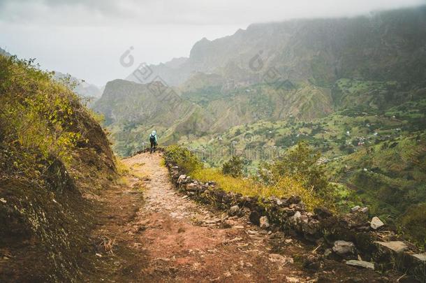
[[[426,253],[419,254],[414,245],[400,240],[381,226],[383,223],[376,223],[377,219],[369,222],[367,209],[354,208],[353,212],[339,216],[327,208],[308,212],[298,196],[242,196],[223,191],[214,182],[192,180],[167,158],[166,166],[175,187],[195,201],[228,210],[230,215],[248,215],[250,222],[261,228],[284,231],[321,245],[317,252],[332,259],[364,268],[397,269],[426,282]]]

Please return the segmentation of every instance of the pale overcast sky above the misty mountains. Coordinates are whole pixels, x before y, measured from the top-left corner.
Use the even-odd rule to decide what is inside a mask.
[[[96,85],[125,78],[136,63],[187,57],[200,38],[234,34],[253,22],[341,17],[426,0],[0,0],[0,48],[43,69]]]

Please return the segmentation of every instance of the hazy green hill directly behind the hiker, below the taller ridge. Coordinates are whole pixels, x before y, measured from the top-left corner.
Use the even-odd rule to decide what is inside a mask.
[[[143,147],[147,133],[161,133],[161,142],[175,140],[175,134],[207,131],[208,115],[200,106],[182,99],[160,82],[146,85],[126,80],[108,82],[101,99],[93,106],[105,116],[112,131],[114,149],[122,155]]]

